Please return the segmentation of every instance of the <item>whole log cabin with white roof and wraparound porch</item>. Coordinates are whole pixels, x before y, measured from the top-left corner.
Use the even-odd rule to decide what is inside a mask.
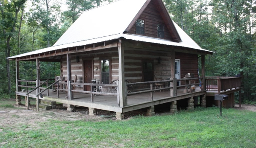
[[[239,81],[221,89],[218,79],[226,78],[212,77],[207,84],[205,56],[212,53],[171,20],[162,0],[118,0],[85,11],[53,46],[8,59],[16,61],[17,104],[25,96],[28,108],[31,97],[38,110],[43,102],[52,107],[60,102],[70,111],[78,105],[88,107],[90,115],[101,109],[122,119],[141,108],[153,116],[159,104],[169,104],[173,113],[177,105],[206,107],[208,85],[215,93],[240,91]],[[21,80],[22,61],[36,62],[36,80]],[[61,74],[53,84],[40,79],[40,61],[60,62]]]

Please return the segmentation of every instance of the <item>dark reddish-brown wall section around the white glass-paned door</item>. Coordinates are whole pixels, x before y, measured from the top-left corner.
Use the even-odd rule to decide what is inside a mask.
[[[198,55],[175,52],[175,59],[180,60],[180,78],[185,77],[187,73],[194,73],[195,77],[198,77]],[[200,75],[201,76],[201,75]],[[202,77],[202,76],[201,76]],[[198,81],[195,81],[198,83]],[[182,81],[181,85],[184,85],[185,82]]]

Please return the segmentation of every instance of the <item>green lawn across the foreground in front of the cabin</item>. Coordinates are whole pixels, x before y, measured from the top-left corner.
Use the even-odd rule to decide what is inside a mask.
[[[0,132],[2,148],[255,148],[256,113],[197,108],[174,115],[103,122],[57,121]],[[1,143],[4,143],[1,145]]]

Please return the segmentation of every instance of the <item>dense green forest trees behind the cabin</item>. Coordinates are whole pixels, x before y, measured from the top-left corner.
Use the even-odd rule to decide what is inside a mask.
[[[52,46],[83,11],[111,1],[0,0],[1,98],[16,90],[15,61],[6,57]],[[215,52],[206,56],[206,76],[241,75],[242,101],[256,104],[256,0],[163,1],[174,22]],[[42,62],[41,78],[59,73],[59,63]],[[21,62],[20,77],[35,79],[35,62]]]

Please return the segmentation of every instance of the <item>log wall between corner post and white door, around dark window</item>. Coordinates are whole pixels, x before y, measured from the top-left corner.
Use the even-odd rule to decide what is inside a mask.
[[[153,51],[147,49],[134,49],[125,47],[124,50],[124,76],[131,83],[142,81],[142,64],[145,61],[153,62],[153,74],[156,78],[171,78],[170,52]],[[162,63],[158,63],[159,57]],[[153,80],[154,81],[154,80]]]

